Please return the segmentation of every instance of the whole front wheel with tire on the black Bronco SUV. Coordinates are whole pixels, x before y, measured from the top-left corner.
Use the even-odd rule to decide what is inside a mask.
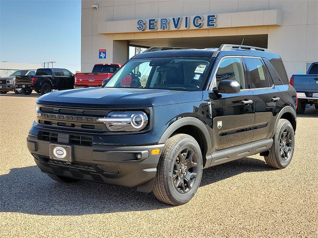
[[[152,191],[161,202],[187,203],[199,188],[202,170],[202,153],[197,141],[192,136],[176,134],[162,150]]]

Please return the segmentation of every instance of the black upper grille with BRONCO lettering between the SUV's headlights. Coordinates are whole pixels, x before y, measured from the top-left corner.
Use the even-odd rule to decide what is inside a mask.
[[[72,128],[89,132],[107,131],[106,125],[97,122],[96,119],[104,117],[111,110],[89,110],[78,108],[62,108],[57,106],[39,106],[41,116],[38,117],[38,124],[45,124],[52,127]]]

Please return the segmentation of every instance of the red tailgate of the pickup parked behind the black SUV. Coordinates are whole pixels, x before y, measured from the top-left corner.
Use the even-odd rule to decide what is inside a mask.
[[[105,78],[109,78],[111,73],[77,73],[75,84],[77,86],[98,87],[101,86]]]

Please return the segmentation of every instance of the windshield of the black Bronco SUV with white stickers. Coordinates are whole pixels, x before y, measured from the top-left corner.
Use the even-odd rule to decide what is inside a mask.
[[[132,59],[103,87],[202,90],[213,58]]]

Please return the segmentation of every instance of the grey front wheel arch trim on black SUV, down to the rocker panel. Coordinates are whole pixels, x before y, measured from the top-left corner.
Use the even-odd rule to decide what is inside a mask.
[[[158,143],[165,143],[171,135],[183,133],[194,137],[198,142],[203,158],[203,166],[206,164],[206,156],[211,154],[211,135],[206,125],[195,117],[183,117],[173,122],[162,134]]]

